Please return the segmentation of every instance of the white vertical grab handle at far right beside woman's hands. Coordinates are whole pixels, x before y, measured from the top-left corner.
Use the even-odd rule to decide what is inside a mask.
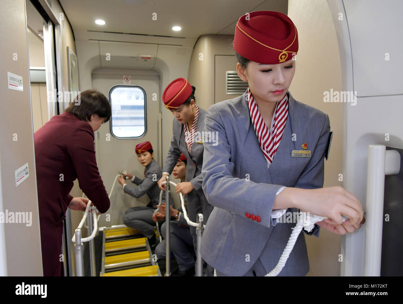
[[[400,154],[384,145],[368,145],[364,276],[380,276],[385,175],[398,174]]]

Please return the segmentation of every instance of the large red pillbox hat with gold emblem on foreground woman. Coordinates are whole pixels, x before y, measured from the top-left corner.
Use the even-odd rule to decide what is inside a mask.
[[[272,10],[250,12],[235,26],[234,49],[242,57],[264,64],[278,64],[298,52],[298,33],[287,15]]]

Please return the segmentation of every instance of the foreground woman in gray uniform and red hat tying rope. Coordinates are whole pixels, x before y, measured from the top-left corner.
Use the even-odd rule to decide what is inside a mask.
[[[249,87],[211,105],[206,116],[204,130],[216,132],[218,143],[204,144],[203,190],[214,211],[201,254],[217,276],[263,276],[277,265],[295,227],[278,220],[287,210],[327,217],[311,232],[304,230],[315,236],[320,227],[354,232],[363,211],[343,188],[322,188],[330,122],[288,92],[298,51],[291,19],[273,11],[245,14],[235,27],[234,49],[238,75]],[[349,220],[343,222],[341,215]],[[305,238],[299,234],[279,275],[308,271]]]

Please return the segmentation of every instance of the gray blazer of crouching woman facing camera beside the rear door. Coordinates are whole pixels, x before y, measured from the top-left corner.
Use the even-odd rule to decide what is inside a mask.
[[[160,178],[162,178],[162,168],[153,159],[145,167],[145,178],[143,180],[137,176],[134,178],[133,184],[136,184],[138,187],[127,184],[125,186],[125,193],[136,198],[147,193],[148,197],[150,197],[150,203],[147,204],[147,207],[157,208],[156,206],[160,203],[161,190],[157,184]],[[165,200],[165,192],[162,195],[162,199]]]

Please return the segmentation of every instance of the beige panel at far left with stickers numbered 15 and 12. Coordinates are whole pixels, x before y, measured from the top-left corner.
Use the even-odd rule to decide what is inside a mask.
[[[25,1],[5,0],[1,5],[0,275],[40,276]]]

